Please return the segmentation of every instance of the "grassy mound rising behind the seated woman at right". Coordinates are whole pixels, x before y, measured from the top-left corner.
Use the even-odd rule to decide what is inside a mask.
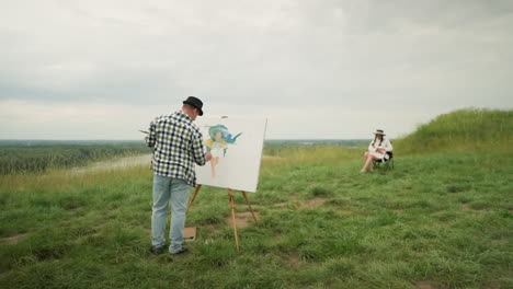
[[[467,108],[443,114],[395,141],[401,154],[508,149],[513,111]]]

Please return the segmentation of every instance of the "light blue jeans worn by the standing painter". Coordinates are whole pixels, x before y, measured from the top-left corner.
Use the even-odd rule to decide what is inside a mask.
[[[151,216],[151,245],[164,246],[166,219],[171,200],[171,229],[169,239],[170,253],[182,248],[183,228],[185,227],[185,211],[189,203],[191,186],[181,178],[153,175],[153,212]]]

